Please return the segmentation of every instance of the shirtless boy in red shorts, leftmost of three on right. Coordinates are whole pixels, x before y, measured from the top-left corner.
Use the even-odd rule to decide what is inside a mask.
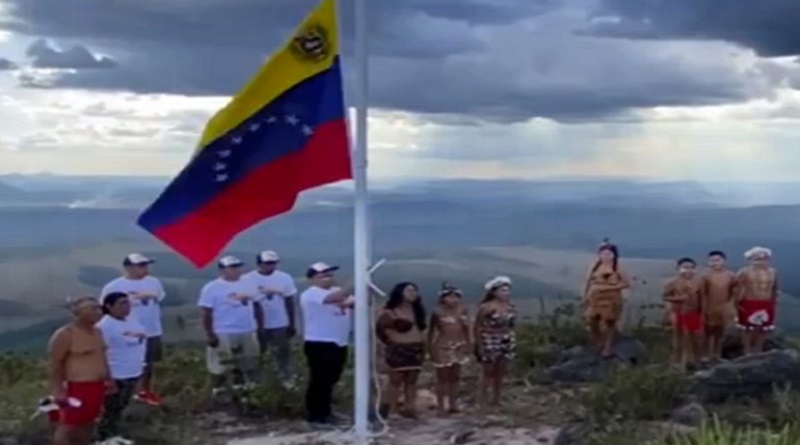
[[[695,276],[697,263],[691,258],[678,260],[678,276],[664,286],[664,301],[673,311],[673,362],[693,367],[703,350],[703,285]]]

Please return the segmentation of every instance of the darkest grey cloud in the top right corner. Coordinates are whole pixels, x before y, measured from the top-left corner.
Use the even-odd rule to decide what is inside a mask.
[[[798,0],[601,0],[587,32],[626,38],[723,39],[763,56],[800,54]]]

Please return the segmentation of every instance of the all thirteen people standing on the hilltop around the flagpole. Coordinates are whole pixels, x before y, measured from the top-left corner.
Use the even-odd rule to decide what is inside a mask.
[[[738,273],[727,269],[720,251],[709,254],[709,270],[702,275],[691,258],[677,262],[678,272],[663,292],[676,362],[690,366],[719,357],[722,334],[733,323],[742,330],[746,353],[763,350],[775,326],[779,294],[771,256],[769,249],[751,249],[745,253],[749,264]],[[261,356],[267,351],[284,387],[295,387],[290,340],[298,332],[298,290],[294,278],[278,269],[279,262],[277,253],[264,251],[256,256],[256,268],[244,273],[244,261],[224,256],[217,262],[219,276],[200,291],[197,304],[213,395],[246,392],[259,384]],[[153,381],[163,354],[161,306],[167,295],[150,275],[152,263],[141,254],[126,256],[124,274],[108,283],[99,299],[72,300],[73,321],[53,334],[48,349],[51,396],[42,406],[49,407],[57,425],[56,445],[89,445],[93,440],[130,445],[118,430],[130,401],[161,405]],[[337,423],[331,398],[347,362],[353,325],[353,288],[337,285],[337,270],[312,264],[305,273],[309,287],[299,295],[308,365],[307,420],[320,428]],[[583,289],[587,330],[603,357],[613,355],[623,292],[630,286],[617,247],[604,242]],[[377,308],[375,324],[379,368],[388,375],[384,416],[416,416],[416,384],[428,358],[436,372],[442,414],[459,410],[461,370],[472,360],[481,367],[479,404],[498,404],[516,355],[511,290],[508,277],[492,278],[471,316],[462,291],[445,284],[428,314],[416,284],[397,284]]]

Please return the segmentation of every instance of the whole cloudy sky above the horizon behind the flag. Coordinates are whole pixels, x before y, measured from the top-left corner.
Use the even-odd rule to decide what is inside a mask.
[[[176,173],[313,3],[0,0],[0,173]],[[798,0],[369,3],[376,179],[800,179]]]

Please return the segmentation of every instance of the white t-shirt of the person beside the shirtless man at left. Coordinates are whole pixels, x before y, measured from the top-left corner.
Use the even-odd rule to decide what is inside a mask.
[[[106,315],[97,323],[106,343],[106,360],[114,379],[135,379],[142,375],[147,332],[132,316],[125,320]]]

